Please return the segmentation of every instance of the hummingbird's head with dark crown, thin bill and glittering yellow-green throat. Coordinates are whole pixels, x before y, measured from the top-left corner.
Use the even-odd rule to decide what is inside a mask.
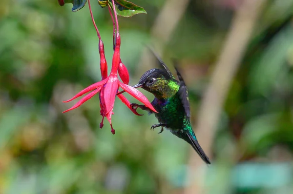
[[[143,88],[157,98],[172,97],[179,90],[179,82],[161,69],[148,70],[134,88]]]

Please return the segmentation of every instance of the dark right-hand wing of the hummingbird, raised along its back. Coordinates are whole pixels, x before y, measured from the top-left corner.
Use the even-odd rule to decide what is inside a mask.
[[[180,81],[180,86],[179,86],[179,90],[178,90],[178,94],[179,94],[179,98],[181,100],[181,103],[184,107],[185,110],[185,115],[187,117],[190,117],[190,110],[189,110],[189,98],[188,98],[188,91],[187,91],[187,87],[185,85],[185,82],[181,76],[181,74],[179,73],[178,69],[175,67],[177,76],[179,78]]]

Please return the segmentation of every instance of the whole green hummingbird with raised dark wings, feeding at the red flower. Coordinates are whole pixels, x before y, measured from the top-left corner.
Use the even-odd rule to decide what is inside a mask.
[[[146,71],[146,73],[140,78],[138,84],[132,87],[143,88],[152,93],[154,99],[151,104],[158,113],[154,113],[145,105],[131,103],[130,106],[135,110],[137,108],[146,110],[149,112],[149,115],[154,114],[158,119],[159,124],[152,125],[150,128],[151,130],[161,127],[160,134],[164,131],[164,128],[168,129],[173,135],[188,142],[197,154],[207,164],[210,164],[209,157],[199,145],[192,130],[190,123],[188,90],[181,74],[176,66],[174,66],[179,81],[176,80],[162,59],[153,51],[152,53],[163,68]],[[124,92],[125,91],[122,91],[117,95]]]

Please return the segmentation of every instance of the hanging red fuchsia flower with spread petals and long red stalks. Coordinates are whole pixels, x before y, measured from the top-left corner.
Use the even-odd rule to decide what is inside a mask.
[[[112,0],[112,2],[113,1],[114,0]],[[114,4],[114,2],[113,2],[113,4]],[[117,19],[117,15],[116,15],[115,6],[113,6],[113,7],[114,7],[114,14],[115,14],[116,25],[117,25],[117,33],[116,33],[116,36],[114,39],[115,40],[114,41],[115,47],[114,47],[114,54],[113,54],[113,59],[112,59],[112,69],[111,69],[110,75],[107,76],[108,69],[107,69],[107,62],[105,59],[104,44],[103,44],[103,41],[101,40],[99,30],[95,24],[94,19],[93,19],[91,6],[90,6],[90,0],[88,0],[88,5],[89,5],[91,18],[93,20],[94,26],[96,28],[96,31],[97,31],[97,34],[99,37],[100,68],[101,68],[102,80],[88,86],[87,88],[85,88],[84,90],[79,92],[77,95],[72,97],[71,99],[63,101],[63,102],[69,102],[69,101],[74,100],[77,97],[81,97],[85,93],[88,93],[91,91],[86,96],[84,96],[82,99],[80,99],[74,106],[72,106],[70,109],[64,111],[63,113],[66,113],[68,111],[76,109],[77,107],[81,106],[85,101],[89,100],[91,97],[93,97],[94,95],[96,95],[97,93],[100,92],[100,94],[99,94],[100,107],[101,107],[100,113],[103,116],[102,122],[100,123],[100,128],[102,128],[104,126],[103,121],[104,121],[104,117],[106,117],[110,123],[112,134],[115,134],[115,130],[113,129],[113,126],[112,126],[111,116],[114,114],[113,113],[114,102],[115,102],[115,97],[116,97],[116,94],[118,93],[119,87],[121,87],[123,90],[125,90],[132,97],[141,101],[150,110],[152,110],[154,112],[157,112],[157,111],[154,109],[154,107],[151,105],[151,103],[147,100],[147,98],[140,91],[127,85],[129,82],[129,74],[128,74],[126,66],[122,63],[122,61],[120,59],[121,39],[120,39],[120,34],[119,34],[119,26],[118,26],[118,19]],[[112,19],[113,19],[113,17],[112,17]],[[115,27],[115,25],[114,25],[114,27]],[[115,28],[114,28],[114,33],[115,33]],[[114,34],[113,34],[113,36],[114,36]],[[118,74],[123,82],[118,80]],[[136,112],[136,110],[134,110],[130,107],[130,102],[127,100],[127,98],[125,96],[118,95],[118,97],[124,104],[126,104],[126,106],[135,115],[141,116],[140,114],[138,114]]]

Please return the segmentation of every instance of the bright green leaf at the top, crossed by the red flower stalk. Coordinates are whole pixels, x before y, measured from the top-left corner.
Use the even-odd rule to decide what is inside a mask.
[[[113,10],[113,4],[111,0],[99,0],[99,5],[101,7],[106,7],[109,5]],[[118,16],[131,17],[136,14],[146,14],[146,10],[132,2],[127,0],[115,0],[115,7]]]

